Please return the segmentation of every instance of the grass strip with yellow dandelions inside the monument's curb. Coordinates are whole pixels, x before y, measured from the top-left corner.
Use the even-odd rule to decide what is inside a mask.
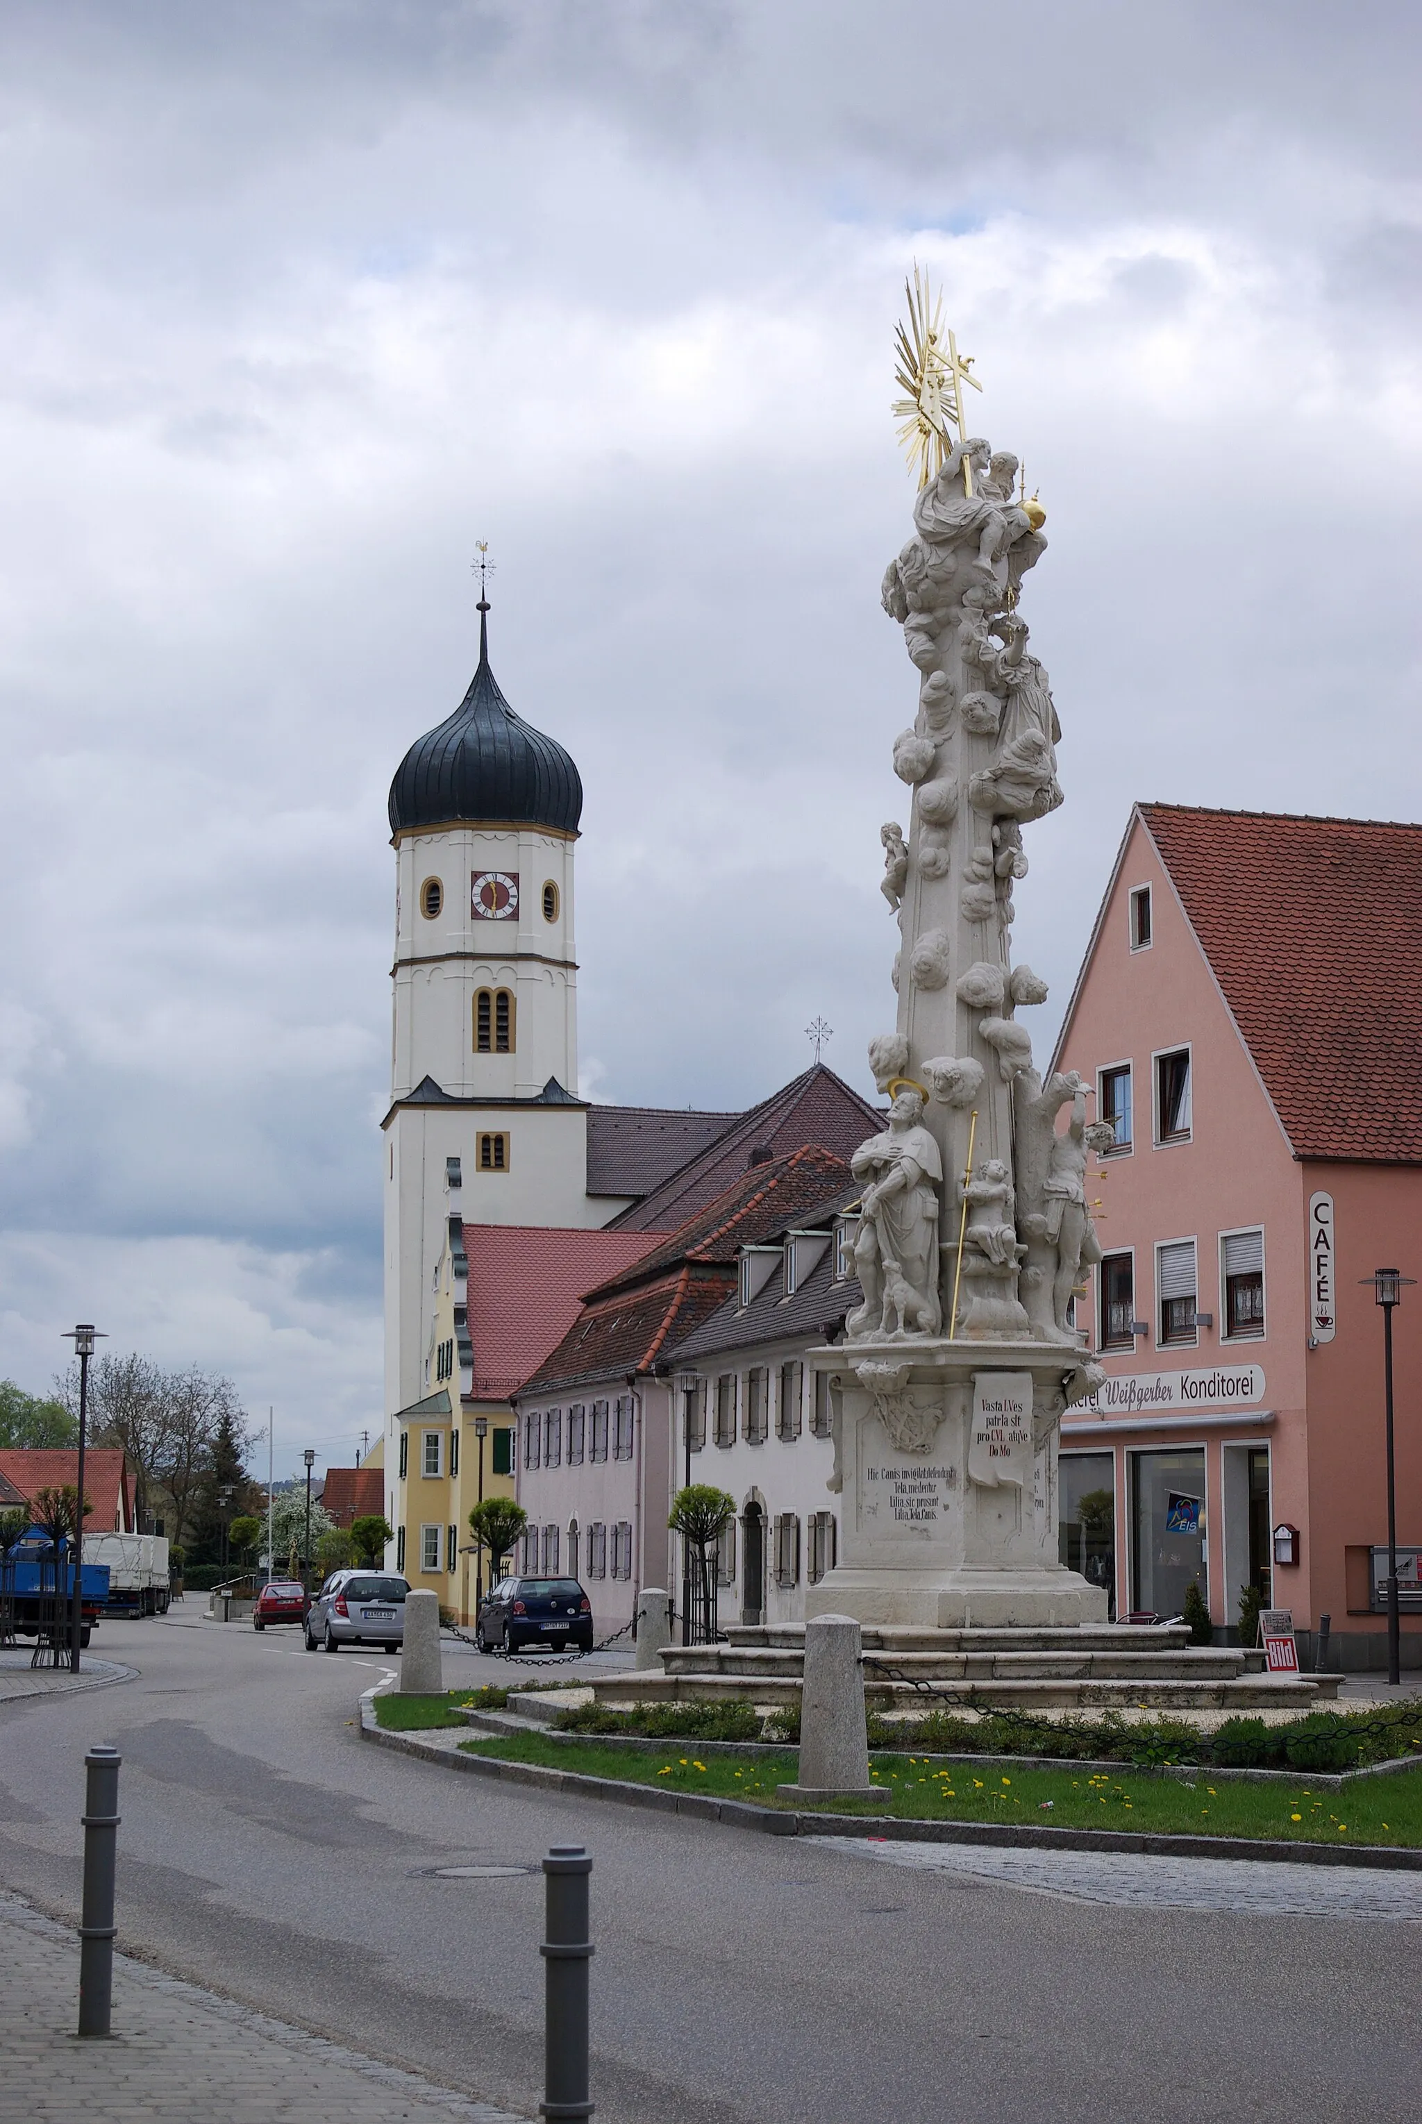
[[[376,1697],[397,1701],[393,1697]],[[406,1697],[406,1703],[410,1699]],[[440,1701],[440,1699],[434,1699]],[[504,1763],[546,1763],[591,1778],[633,1784],[670,1784],[676,1791],[750,1799],[757,1805],[795,1805],[776,1799],[778,1784],[793,1784],[793,1752],[735,1763],[727,1754],[697,1757],[691,1742],[665,1752],[623,1752],[597,1742],[557,1742],[542,1733],[508,1740],[468,1740],[470,1754]],[[1307,1776],[1286,1784],[1197,1784],[1173,1778],[1088,1776],[1059,1769],[999,1769],[954,1765],[952,1771],[903,1754],[869,1759],[876,1791],[846,1799],[835,1814],[897,1814],[914,1820],[1046,1822],[1052,1829],[1141,1829],[1169,1835],[1280,1837],[1303,1844],[1422,1844],[1422,1767],[1394,1778],[1367,1778],[1345,1793],[1311,1793]]]

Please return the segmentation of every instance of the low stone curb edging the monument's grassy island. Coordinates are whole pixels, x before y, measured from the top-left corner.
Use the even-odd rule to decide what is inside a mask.
[[[752,1829],[772,1837],[867,1837],[895,1844],[976,1844],[980,1848],[1078,1850],[1078,1852],[1148,1852],[1156,1858],[1258,1858],[1275,1865],[1343,1865],[1377,1867],[1392,1873],[1422,1873],[1422,1850],[1392,1844],[1286,1844],[1273,1837],[1186,1837],[1118,1829],[1046,1829],[1035,1822],[931,1822],[897,1814],[793,1814],[789,1808],[757,1808],[746,1799],[714,1799],[710,1793],[663,1793],[653,1784],[631,1784],[619,1778],[591,1778],[580,1769],[548,1769],[542,1763],[502,1763],[480,1754],[457,1754],[451,1748],[421,1742],[412,1733],[387,1733],[376,1725],[372,1697],[361,1697],[361,1740],[397,1754],[414,1754],[474,1778],[500,1784],[529,1784],[544,1793],[578,1793],[585,1799],[608,1799],[623,1808],[646,1808],[653,1814],[689,1814],[725,1822],[731,1829]],[[1114,1763],[1112,1769],[1131,1769]]]

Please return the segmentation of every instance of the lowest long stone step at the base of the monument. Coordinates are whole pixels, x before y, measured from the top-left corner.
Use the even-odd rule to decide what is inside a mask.
[[[916,1691],[910,1682],[874,1682],[869,1701],[880,1710],[1020,1710],[1020,1712],[1288,1712],[1299,1716],[1337,1695],[1341,1676],[1324,1674],[1301,1680],[1243,1674],[1235,1680],[988,1680],[952,1682],[946,1693],[954,1703]],[[746,1674],[614,1674],[593,1680],[597,1703],[799,1703],[797,1676]]]

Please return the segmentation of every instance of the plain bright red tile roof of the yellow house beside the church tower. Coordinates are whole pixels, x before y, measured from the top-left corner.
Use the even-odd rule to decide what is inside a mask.
[[[661,1232],[465,1223],[474,1398],[506,1402],[563,1340],[582,1294],[659,1238]]]

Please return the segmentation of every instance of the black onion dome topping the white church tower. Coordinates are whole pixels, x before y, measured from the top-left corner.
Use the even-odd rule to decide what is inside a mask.
[[[391,833],[472,820],[576,833],[582,782],[563,748],[512,712],[489,669],[487,605],[478,614],[478,671],[438,726],[419,737],[391,782]]]

